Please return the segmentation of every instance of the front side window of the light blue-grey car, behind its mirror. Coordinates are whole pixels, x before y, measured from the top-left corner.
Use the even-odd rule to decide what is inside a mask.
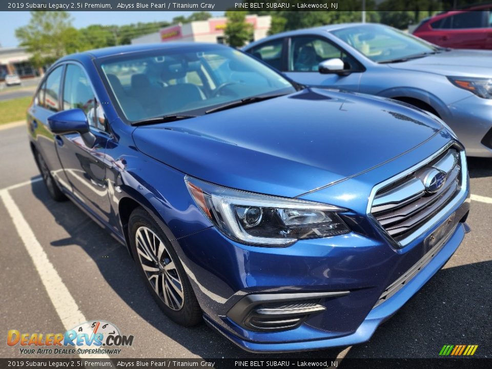
[[[317,72],[319,63],[330,58],[340,58],[351,64],[347,60],[347,54],[322,38],[293,37],[289,53],[289,71]],[[352,69],[354,69],[353,66]]]

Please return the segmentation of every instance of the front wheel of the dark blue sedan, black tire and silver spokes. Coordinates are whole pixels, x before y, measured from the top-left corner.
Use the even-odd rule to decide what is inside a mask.
[[[185,269],[169,239],[143,208],[136,208],[130,215],[128,234],[138,271],[160,309],[180,325],[193,326],[200,323],[202,311]],[[148,238],[145,238],[146,235]],[[158,249],[162,250],[162,246],[163,251],[159,254]],[[168,267],[171,269],[166,270]],[[177,286],[177,280],[181,283],[181,289]]]

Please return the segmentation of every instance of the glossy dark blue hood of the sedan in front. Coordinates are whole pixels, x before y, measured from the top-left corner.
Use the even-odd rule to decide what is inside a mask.
[[[137,127],[133,138],[141,152],[189,175],[295,197],[412,150],[441,128],[424,113],[381,97],[305,89]]]

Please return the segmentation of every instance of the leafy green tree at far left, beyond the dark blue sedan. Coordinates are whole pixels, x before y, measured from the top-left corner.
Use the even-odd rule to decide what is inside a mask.
[[[80,46],[78,32],[66,11],[33,11],[29,24],[17,28],[15,36],[32,54],[31,63],[36,68],[52,64]]]

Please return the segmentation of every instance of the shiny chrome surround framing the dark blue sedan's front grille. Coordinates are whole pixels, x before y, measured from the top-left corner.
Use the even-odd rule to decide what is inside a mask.
[[[396,240],[394,239],[387,231],[384,229],[384,227],[379,223],[379,221],[376,219],[376,217],[372,214],[373,211],[373,203],[376,199],[376,194],[378,193],[379,190],[383,189],[384,187],[387,187],[391,185],[392,183],[395,183],[404,177],[408,176],[409,174],[423,168],[425,165],[428,163],[432,162],[439,156],[443,155],[443,153],[447,150],[449,150],[452,147],[456,147],[460,157],[460,167],[461,167],[461,188],[459,192],[454,196],[452,200],[450,200],[441,210],[439,210],[433,217],[429,218],[428,220],[424,221],[414,232],[406,236],[405,238],[401,240]],[[454,156],[454,155],[452,155]],[[454,157],[452,157],[453,160],[455,160]],[[439,165],[439,169],[441,168],[446,168],[450,163],[450,158],[448,155],[445,155],[441,160],[439,160],[437,163],[433,165],[433,167],[437,167]],[[423,233],[427,232],[430,228],[435,226],[435,224],[442,219],[449,211],[451,211],[457,204],[463,202],[466,199],[466,193],[468,191],[468,166],[466,163],[466,154],[465,150],[459,145],[456,141],[450,141],[446,146],[441,148],[438,152],[435,154],[427,157],[426,159],[420,161],[416,165],[414,165],[411,168],[408,168],[407,170],[391,177],[386,180],[384,180],[381,183],[378,183],[378,185],[374,186],[371,194],[368,198],[367,201],[367,209],[366,209],[366,215],[367,218],[371,220],[371,222],[374,224],[376,229],[383,235],[383,237],[388,241],[389,244],[392,245],[393,248],[395,249],[401,249],[408,244],[412,243],[415,241],[419,236],[421,236]],[[397,187],[398,188],[398,187]],[[381,203],[381,202],[380,202]]]

